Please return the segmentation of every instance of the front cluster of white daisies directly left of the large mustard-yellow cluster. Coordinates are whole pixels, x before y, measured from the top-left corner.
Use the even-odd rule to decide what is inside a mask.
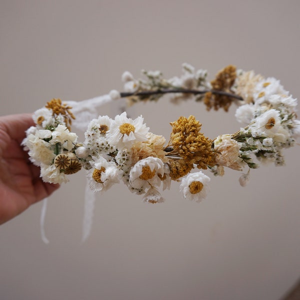
[[[131,119],[126,112],[114,119],[100,116],[88,124],[83,146],[89,165],[84,167],[92,190],[104,191],[121,179],[131,192],[145,194],[144,201],[162,201],[157,188],[168,181],[165,140],[161,143],[162,136],[148,131],[141,116]]]

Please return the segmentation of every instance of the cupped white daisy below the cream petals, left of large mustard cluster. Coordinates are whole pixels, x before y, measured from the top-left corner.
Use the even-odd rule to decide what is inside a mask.
[[[130,170],[129,183],[132,187],[149,188],[159,186],[163,176],[164,166],[157,157],[146,157],[138,160]]]

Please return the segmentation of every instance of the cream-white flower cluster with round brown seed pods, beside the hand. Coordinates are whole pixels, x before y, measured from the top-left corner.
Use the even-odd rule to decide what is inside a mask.
[[[63,111],[64,108],[61,107]],[[69,131],[62,114],[55,114],[49,108],[37,109],[32,118],[35,126],[27,129],[26,138],[22,141],[22,145],[28,150],[30,161],[40,167],[43,181],[67,182],[64,170],[72,173],[74,168],[79,167],[75,165],[77,159],[72,154],[77,134]]]

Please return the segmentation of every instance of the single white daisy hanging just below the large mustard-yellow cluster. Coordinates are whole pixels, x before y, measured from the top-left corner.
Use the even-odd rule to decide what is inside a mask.
[[[206,198],[209,181],[210,178],[201,171],[189,173],[182,178],[179,189],[184,198],[200,202]]]

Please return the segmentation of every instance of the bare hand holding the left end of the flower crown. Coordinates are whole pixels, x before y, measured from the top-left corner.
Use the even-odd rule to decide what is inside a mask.
[[[0,224],[47,197],[59,184],[43,182],[20,143],[31,114],[0,116]]]

